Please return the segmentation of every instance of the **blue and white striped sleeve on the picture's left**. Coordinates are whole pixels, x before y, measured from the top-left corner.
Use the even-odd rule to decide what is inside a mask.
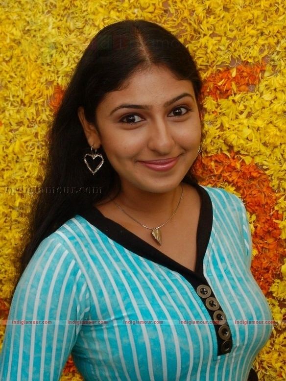
[[[89,295],[74,256],[54,234],[36,249],[16,287],[2,351],[1,381],[59,380],[81,324]]]

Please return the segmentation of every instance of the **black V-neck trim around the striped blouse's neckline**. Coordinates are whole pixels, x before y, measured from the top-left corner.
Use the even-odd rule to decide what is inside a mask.
[[[184,179],[184,182],[192,185],[198,191],[201,198],[201,208],[199,214],[199,221],[197,227],[196,235],[196,245],[197,245],[197,258],[195,270],[192,271],[189,268],[183,266],[182,264],[174,261],[166,254],[164,254],[159,249],[150,245],[148,242],[144,241],[142,238],[136,236],[134,233],[130,232],[124,228],[119,223],[113,221],[110,218],[105,217],[97,208],[93,207],[86,211],[79,213],[88,222],[94,225],[107,237],[119,243],[126,249],[140,255],[141,257],[148,259],[150,261],[161,264],[170,270],[177,271],[182,274],[190,282],[190,277],[192,280],[196,278],[199,284],[205,281],[203,274],[203,259],[206,253],[206,249],[210,240],[212,225],[213,225],[213,207],[212,201],[208,192],[194,183],[191,179]],[[195,282],[195,283],[197,283]]]

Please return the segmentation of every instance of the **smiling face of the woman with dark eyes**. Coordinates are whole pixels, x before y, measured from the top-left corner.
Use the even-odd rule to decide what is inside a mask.
[[[134,74],[124,90],[108,93],[96,109],[96,121],[99,135],[94,130],[89,143],[95,143],[95,148],[102,145],[123,190],[173,190],[200,145],[200,118],[191,81],[178,80],[156,66]],[[100,170],[104,171],[104,165]]]

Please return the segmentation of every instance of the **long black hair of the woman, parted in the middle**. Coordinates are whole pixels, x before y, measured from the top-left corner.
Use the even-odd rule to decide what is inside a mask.
[[[98,153],[104,156],[104,171],[93,176],[84,163],[84,155],[91,151],[78,118],[78,107],[84,108],[85,118],[96,127],[95,110],[104,95],[122,89],[128,77],[152,65],[163,65],[178,79],[190,80],[202,114],[200,74],[189,50],[172,33],[145,20],[119,21],[101,29],[72,73],[48,128],[47,149],[39,169],[41,187],[32,197],[17,247],[10,303],[39,243],[119,185],[118,175],[102,147]]]

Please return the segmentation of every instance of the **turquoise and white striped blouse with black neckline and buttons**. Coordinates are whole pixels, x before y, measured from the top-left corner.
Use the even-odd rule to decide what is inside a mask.
[[[196,187],[207,240],[195,271],[97,209],[45,238],[13,297],[0,380],[59,380],[71,354],[86,381],[247,381],[272,316],[250,272],[246,210]]]

